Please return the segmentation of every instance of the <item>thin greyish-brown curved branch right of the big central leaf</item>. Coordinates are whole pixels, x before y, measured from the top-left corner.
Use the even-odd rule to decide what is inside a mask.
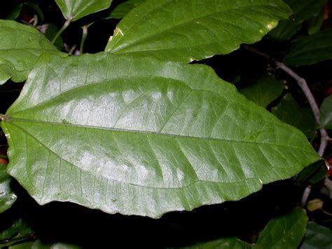
[[[309,102],[309,105],[312,109],[312,113],[314,114],[314,119],[316,120],[316,123],[319,124],[319,107],[317,105],[316,100],[314,100],[314,96],[312,95],[310,88],[307,86],[307,81],[303,79],[301,76],[296,74],[296,72],[293,72],[292,69],[284,65],[284,63],[279,62],[278,60],[275,60],[275,58],[272,58],[270,55],[263,53],[261,51],[258,51],[256,48],[253,48],[251,46],[247,46],[242,44],[242,47],[246,49],[247,51],[250,51],[252,53],[256,53],[256,55],[260,55],[261,57],[265,58],[266,60],[270,60],[275,63],[277,68],[282,69],[286,74],[291,76],[291,78],[295,79],[298,83],[298,86],[303,90],[303,93],[305,94],[305,97],[307,97],[307,101]],[[328,144],[328,141],[331,141],[331,138],[328,137],[328,133],[326,132],[326,129],[320,128],[319,133],[321,134],[321,142],[319,144],[319,150],[318,154],[319,156],[323,156],[326,146]]]

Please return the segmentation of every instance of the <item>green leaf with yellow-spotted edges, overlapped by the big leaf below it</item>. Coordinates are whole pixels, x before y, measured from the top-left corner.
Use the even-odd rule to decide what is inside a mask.
[[[202,60],[260,40],[289,13],[279,0],[150,0],[120,21],[105,51]]]

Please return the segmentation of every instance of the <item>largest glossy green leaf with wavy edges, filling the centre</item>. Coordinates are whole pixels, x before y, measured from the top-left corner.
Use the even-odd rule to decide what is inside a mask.
[[[2,121],[8,172],[39,203],[159,217],[237,200],[319,156],[202,65],[43,56]]]

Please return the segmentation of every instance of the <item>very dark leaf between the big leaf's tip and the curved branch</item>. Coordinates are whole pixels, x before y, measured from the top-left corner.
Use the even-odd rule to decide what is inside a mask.
[[[311,109],[300,107],[289,93],[284,95],[277,107],[272,108],[272,113],[281,121],[302,130],[308,138],[313,137],[317,130]]]

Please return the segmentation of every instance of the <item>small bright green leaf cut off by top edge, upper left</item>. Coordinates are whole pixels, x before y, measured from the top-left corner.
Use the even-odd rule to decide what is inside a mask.
[[[55,0],[67,20],[75,21],[111,6],[112,0]]]

